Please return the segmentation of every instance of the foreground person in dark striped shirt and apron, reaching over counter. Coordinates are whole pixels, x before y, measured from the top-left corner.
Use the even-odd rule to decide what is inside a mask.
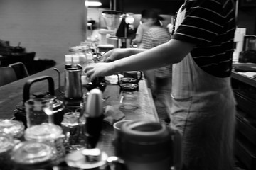
[[[86,67],[90,79],[173,64],[171,127],[183,137],[183,169],[232,170],[235,98],[230,85],[233,0],[186,0],[169,42],[114,49]]]

